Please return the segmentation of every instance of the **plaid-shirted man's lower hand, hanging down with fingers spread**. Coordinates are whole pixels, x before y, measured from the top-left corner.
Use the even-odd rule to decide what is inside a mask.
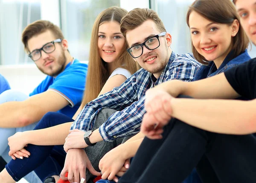
[[[61,179],[68,180],[71,183],[80,183],[81,178],[86,179],[86,168],[96,176],[101,175],[97,172],[85,153],[84,149],[70,149],[67,152],[64,168],[61,171]],[[68,176],[65,177],[65,173],[68,172]]]

